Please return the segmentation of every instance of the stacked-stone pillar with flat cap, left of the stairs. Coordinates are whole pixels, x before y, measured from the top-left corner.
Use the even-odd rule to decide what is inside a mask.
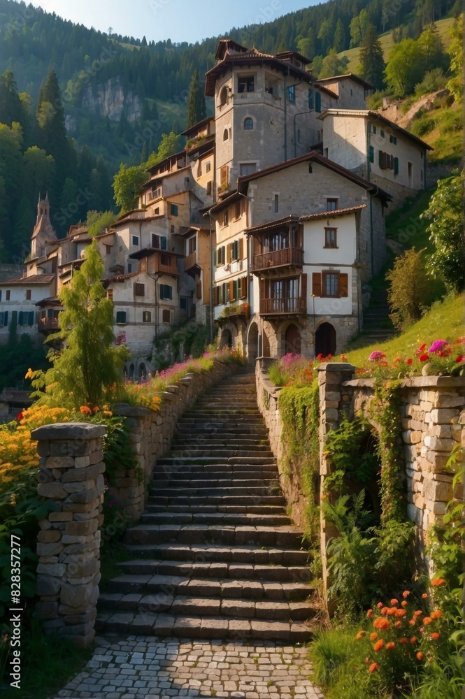
[[[45,633],[87,646],[95,631],[103,521],[103,425],[59,423],[33,430],[37,491],[55,508],[39,521],[36,615]]]

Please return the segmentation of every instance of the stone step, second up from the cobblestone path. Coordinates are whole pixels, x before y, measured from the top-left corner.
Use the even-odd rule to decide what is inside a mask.
[[[127,600],[127,604],[134,605],[137,597],[131,594],[131,600]],[[130,607],[131,610],[138,611],[140,614],[166,613],[182,616],[199,614],[202,617],[223,617],[225,619],[234,617],[235,619],[266,619],[268,621],[289,621],[289,619],[308,621],[317,613],[315,607],[306,602],[208,598],[195,596],[194,592],[176,595],[176,593],[170,594],[169,591],[148,593],[140,597],[137,605]],[[115,598],[102,597],[101,607],[105,608],[105,603],[116,603],[116,607],[113,609],[118,611],[127,610],[127,606],[122,600],[118,602]]]

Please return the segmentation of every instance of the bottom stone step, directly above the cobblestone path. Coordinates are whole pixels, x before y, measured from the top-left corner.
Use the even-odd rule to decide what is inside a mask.
[[[97,631],[158,637],[287,641],[312,640],[314,628],[305,621],[266,621],[231,617],[175,616],[144,612],[106,612],[96,619]]]

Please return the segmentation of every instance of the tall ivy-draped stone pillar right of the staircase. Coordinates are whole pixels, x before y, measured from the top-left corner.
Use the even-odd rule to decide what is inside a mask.
[[[341,420],[342,385],[350,381],[355,374],[355,366],[347,362],[325,362],[318,367],[318,385],[320,387],[320,497],[323,496],[324,478],[330,470],[326,456],[326,437],[331,430],[336,430]],[[327,598],[329,586],[326,549],[331,538],[337,535],[333,525],[320,517],[320,536],[322,554],[322,573],[324,596],[329,612],[333,610],[331,600]]]

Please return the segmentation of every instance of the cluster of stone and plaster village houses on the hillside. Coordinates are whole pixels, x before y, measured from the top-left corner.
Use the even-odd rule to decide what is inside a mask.
[[[97,236],[117,343],[139,380],[185,319],[257,356],[336,354],[364,326],[362,287],[385,261],[385,215],[427,181],[427,143],[369,110],[352,73],[317,80],[293,51],[223,39],[206,73],[214,117],[152,166],[138,208]],[[59,239],[40,197],[24,277],[0,282],[0,340],[57,331],[59,293],[92,242]],[[213,303],[212,303],[213,302]]]

